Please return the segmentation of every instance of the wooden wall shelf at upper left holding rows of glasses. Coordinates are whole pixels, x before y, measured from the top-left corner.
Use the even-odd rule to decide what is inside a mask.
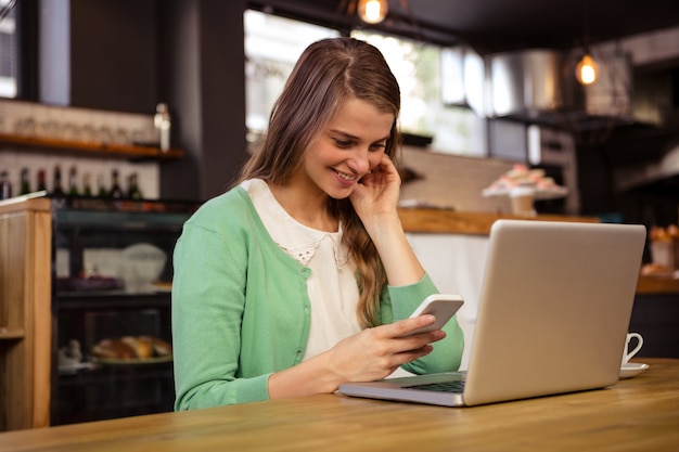
[[[110,158],[138,159],[178,159],[184,156],[183,151],[171,148],[161,151],[159,147],[142,145],[124,145],[110,143],[86,143],[37,137],[22,137],[0,133],[0,146],[18,146],[30,151],[61,151],[66,153]]]

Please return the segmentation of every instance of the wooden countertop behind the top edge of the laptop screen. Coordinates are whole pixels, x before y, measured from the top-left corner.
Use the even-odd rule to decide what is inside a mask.
[[[449,233],[488,235],[490,227],[501,218],[515,220],[576,221],[597,223],[595,217],[571,217],[561,215],[538,215],[537,217],[514,217],[487,212],[460,212],[432,208],[401,208],[398,215],[406,232]]]

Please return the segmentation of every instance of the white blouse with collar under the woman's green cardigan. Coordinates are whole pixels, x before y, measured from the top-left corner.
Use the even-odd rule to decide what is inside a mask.
[[[307,280],[311,328],[304,359],[360,332],[356,314],[359,298],[354,275],[356,266],[349,261],[342,244],[342,224],[338,232],[311,229],[291,217],[261,179],[244,181],[241,186],[249,194],[273,241],[311,270]]]

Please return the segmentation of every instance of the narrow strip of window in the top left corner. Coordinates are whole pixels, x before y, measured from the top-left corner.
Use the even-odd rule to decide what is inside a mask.
[[[15,0],[0,0],[0,96],[16,98]]]

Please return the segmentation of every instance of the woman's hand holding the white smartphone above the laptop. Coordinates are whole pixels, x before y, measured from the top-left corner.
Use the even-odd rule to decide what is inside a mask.
[[[430,344],[446,337],[445,332],[409,334],[435,320],[434,315],[405,319],[363,330],[341,340],[328,351],[338,384],[385,378],[401,364],[431,353],[433,347]]]

